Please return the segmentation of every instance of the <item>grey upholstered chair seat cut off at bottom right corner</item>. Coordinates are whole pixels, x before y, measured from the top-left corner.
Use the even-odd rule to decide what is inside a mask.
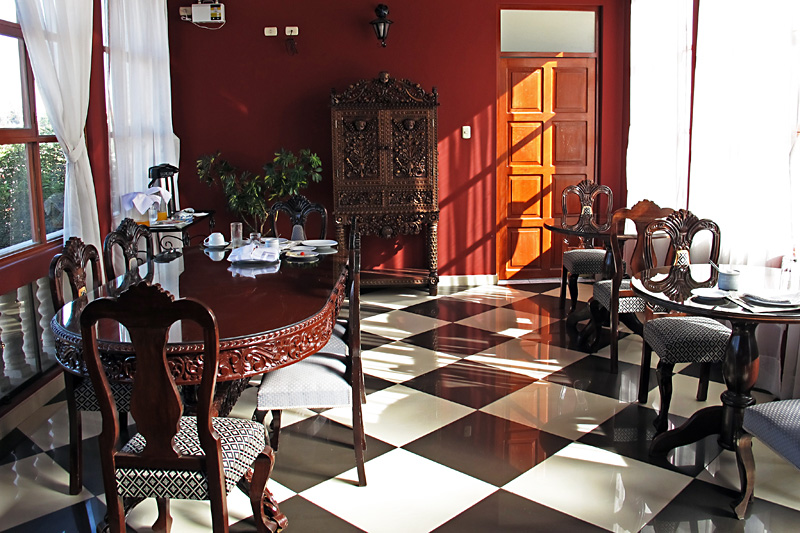
[[[800,399],[748,407],[744,411],[743,427],[800,468]]]

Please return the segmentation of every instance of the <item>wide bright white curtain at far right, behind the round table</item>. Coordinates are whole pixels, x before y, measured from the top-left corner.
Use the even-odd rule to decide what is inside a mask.
[[[779,266],[798,245],[799,6],[700,2],[689,208],[720,225],[724,263]],[[782,397],[800,393],[793,330],[782,387],[783,328],[757,330],[758,386]]]

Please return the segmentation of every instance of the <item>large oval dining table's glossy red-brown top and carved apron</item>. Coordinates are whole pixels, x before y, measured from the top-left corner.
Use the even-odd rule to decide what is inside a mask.
[[[220,336],[217,405],[221,416],[230,412],[249,378],[300,361],[328,342],[344,300],[346,253],[340,250],[311,263],[284,259],[277,272],[248,277],[229,271],[227,259],[214,261],[200,247],[183,251],[175,261],[155,263],[152,281],[176,298],[194,298],[214,311]],[[56,312],[51,322],[56,357],[67,372],[88,377],[81,355],[81,309],[92,299],[119,293],[131,281],[120,276]],[[109,378],[131,381],[136,356],[126,332],[105,321],[97,328]],[[190,323],[173,326],[167,357],[177,385],[200,383],[202,351],[199,328]]]

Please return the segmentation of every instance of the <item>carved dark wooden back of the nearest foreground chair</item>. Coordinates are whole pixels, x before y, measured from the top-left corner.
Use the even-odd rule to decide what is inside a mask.
[[[103,367],[100,359],[94,328],[100,319],[114,320],[124,326],[136,353],[130,412],[136,420],[137,430],[146,441],[139,453],[117,449],[117,408],[106,374],[108,369]],[[193,321],[203,330],[197,431],[204,455],[181,454],[175,444],[183,400],[167,362],[166,345],[170,326],[181,320]],[[101,298],[90,302],[81,312],[80,323],[84,358],[102,413],[99,440],[106,498],[119,502],[117,476],[120,470],[123,475],[124,471],[159,469],[167,473],[175,471],[176,476],[180,476],[179,471],[201,471],[207,477],[212,509],[222,506],[227,516],[221,447],[219,437],[212,429],[219,362],[219,333],[213,312],[196,300],[173,300],[172,295],[159,285],[142,281],[116,300]]]

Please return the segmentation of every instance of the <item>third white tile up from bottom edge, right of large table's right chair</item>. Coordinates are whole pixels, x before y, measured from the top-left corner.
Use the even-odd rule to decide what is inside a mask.
[[[402,383],[458,361],[454,355],[443,354],[395,341],[361,353],[364,373],[394,383]]]

